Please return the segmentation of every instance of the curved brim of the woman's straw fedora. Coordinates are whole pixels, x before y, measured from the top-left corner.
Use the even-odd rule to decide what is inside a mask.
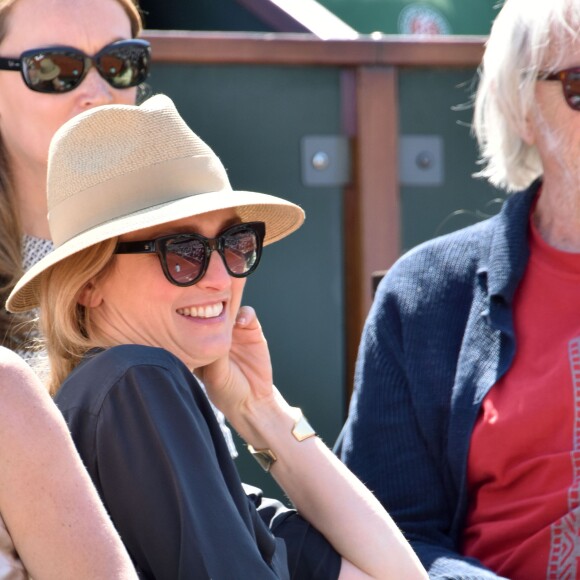
[[[22,276],[8,297],[6,308],[10,312],[24,312],[38,307],[43,275],[56,264],[99,242],[222,209],[234,209],[245,222],[264,222],[264,245],[286,237],[304,222],[304,211],[296,204],[253,191],[214,191],[155,205],[99,224],[55,248]]]

